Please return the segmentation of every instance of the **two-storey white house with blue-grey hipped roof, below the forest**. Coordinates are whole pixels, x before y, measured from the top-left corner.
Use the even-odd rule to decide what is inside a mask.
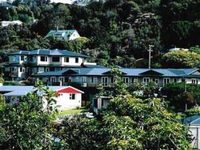
[[[88,56],[68,50],[38,49],[17,51],[9,54],[9,62],[4,65],[6,77],[13,80],[46,71],[59,71],[69,67],[95,66],[88,63]]]

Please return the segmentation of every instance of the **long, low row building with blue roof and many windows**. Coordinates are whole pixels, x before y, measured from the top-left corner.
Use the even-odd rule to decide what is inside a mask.
[[[122,80],[128,86],[135,83],[146,85],[154,82],[158,87],[168,83],[184,82],[186,84],[200,84],[200,71],[197,68],[185,69],[147,69],[147,68],[119,68]],[[60,71],[37,73],[34,78],[43,80],[48,85],[70,82],[83,87],[112,87],[115,81],[112,69],[106,67],[67,68]]]

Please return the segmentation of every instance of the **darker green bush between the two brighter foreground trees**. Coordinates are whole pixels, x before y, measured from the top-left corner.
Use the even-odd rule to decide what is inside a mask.
[[[61,139],[64,149],[101,149],[105,145],[99,145],[103,140],[99,125],[95,119],[75,116],[62,122],[62,128],[58,127],[61,130],[57,136]]]

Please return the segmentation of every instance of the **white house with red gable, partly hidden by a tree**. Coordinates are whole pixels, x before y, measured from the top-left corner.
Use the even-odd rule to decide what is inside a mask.
[[[48,86],[48,88],[58,94],[58,96],[54,98],[58,110],[81,107],[83,91],[72,86]],[[6,101],[11,104],[20,102],[21,96],[33,91],[35,91],[34,86],[0,86],[0,93],[3,94]]]

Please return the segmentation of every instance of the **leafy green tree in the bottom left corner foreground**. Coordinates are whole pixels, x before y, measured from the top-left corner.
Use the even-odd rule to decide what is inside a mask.
[[[46,110],[41,93],[47,100]],[[0,149],[51,149],[53,96],[52,91],[39,88],[18,103],[6,104],[0,110]]]

